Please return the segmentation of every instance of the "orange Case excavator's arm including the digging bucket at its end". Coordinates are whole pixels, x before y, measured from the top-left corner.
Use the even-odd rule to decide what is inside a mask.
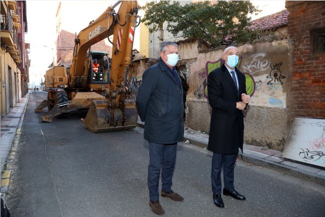
[[[120,3],[118,12],[113,8]],[[91,107],[83,120],[92,132],[134,128],[137,112],[134,100],[126,100],[130,91],[126,85],[128,66],[131,63],[133,37],[137,25],[137,1],[118,1],[91,24],[83,29],[76,38],[75,55],[70,70],[72,85],[83,84],[83,62],[87,49],[104,38],[113,35],[110,84],[106,100],[92,100]],[[87,77],[87,76],[86,76]]]

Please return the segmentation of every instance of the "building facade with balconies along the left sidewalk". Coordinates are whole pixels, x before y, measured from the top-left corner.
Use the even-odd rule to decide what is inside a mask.
[[[27,32],[26,1],[1,1],[1,77],[0,113],[9,113],[20,98],[28,92],[29,44],[25,47]]]

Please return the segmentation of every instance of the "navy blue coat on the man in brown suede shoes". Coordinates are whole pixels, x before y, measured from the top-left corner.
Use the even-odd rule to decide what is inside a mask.
[[[145,122],[145,140],[159,144],[183,141],[183,88],[161,59],[143,72],[136,107],[141,121]]]

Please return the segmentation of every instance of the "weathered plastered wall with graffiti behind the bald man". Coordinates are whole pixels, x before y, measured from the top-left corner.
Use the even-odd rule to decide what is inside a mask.
[[[222,50],[200,52],[197,42],[180,44],[179,53],[191,60],[187,64],[190,89],[187,94],[188,126],[209,132],[211,108],[207,77],[223,64]],[[286,40],[258,42],[238,47],[237,67],[246,76],[246,90],[251,101],[245,118],[244,141],[257,146],[282,150],[288,135],[287,89],[289,45]]]

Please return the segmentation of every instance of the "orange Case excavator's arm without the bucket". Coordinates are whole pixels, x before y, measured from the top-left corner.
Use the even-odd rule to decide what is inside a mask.
[[[114,7],[118,4],[120,4],[120,7],[116,13]],[[109,39],[109,36],[113,35],[110,86],[115,91],[119,91],[123,82],[125,68],[131,63],[138,7],[137,1],[117,1],[114,5],[109,6],[96,20],[92,21],[89,26],[80,31],[75,39],[73,60],[69,72],[72,88],[82,88],[86,85],[87,66],[91,62],[91,59],[87,58],[86,54],[90,47],[105,38]]]

